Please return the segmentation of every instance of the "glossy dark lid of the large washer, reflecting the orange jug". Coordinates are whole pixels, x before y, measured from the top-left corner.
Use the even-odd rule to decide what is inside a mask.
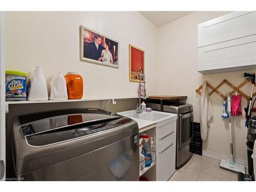
[[[71,109],[22,115],[18,120],[23,133],[22,137],[27,137],[72,125],[121,117],[100,109]]]

